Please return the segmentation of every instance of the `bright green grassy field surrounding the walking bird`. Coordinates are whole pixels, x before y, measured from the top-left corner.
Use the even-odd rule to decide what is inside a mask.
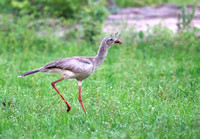
[[[94,56],[99,41],[36,35],[25,20],[0,26],[0,138],[199,138],[200,40],[194,31],[156,29],[148,38],[122,33],[101,67],[82,85],[51,87],[58,75],[23,72],[70,56]],[[49,33],[50,34],[50,33]],[[103,38],[104,35],[102,35]]]

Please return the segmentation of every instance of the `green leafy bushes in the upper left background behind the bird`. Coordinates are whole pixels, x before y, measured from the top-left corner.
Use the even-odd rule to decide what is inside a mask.
[[[105,1],[93,0],[10,0],[4,3],[7,5],[4,9],[12,7],[11,11],[18,16],[73,19],[77,20],[77,23],[80,21],[83,26],[84,38],[89,42],[94,42],[108,15],[105,4]],[[72,36],[73,34],[75,33],[71,32]]]

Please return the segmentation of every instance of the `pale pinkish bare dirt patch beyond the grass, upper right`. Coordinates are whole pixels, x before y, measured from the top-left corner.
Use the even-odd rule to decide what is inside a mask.
[[[187,5],[187,11],[191,12],[193,5]],[[134,31],[146,31],[156,25],[167,27],[172,31],[178,30],[178,16],[181,14],[181,6],[163,4],[160,6],[141,8],[122,8],[117,14],[110,14],[103,24],[103,32],[115,32],[122,29]],[[200,28],[200,7],[196,8],[191,26]]]

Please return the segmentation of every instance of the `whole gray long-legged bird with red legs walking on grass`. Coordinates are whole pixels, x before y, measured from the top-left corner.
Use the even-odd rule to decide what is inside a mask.
[[[122,44],[119,40],[120,34],[115,33],[113,35],[107,36],[103,38],[101,44],[99,46],[99,50],[96,56],[94,57],[86,57],[86,56],[74,56],[69,58],[58,59],[52,61],[45,66],[25,72],[18,77],[24,77],[33,73],[37,72],[46,72],[46,73],[56,73],[60,74],[62,78],[53,81],[51,83],[52,87],[56,90],[56,92],[61,96],[64,102],[67,105],[67,112],[71,110],[71,106],[62,96],[60,91],[56,88],[55,84],[63,81],[65,79],[76,79],[78,82],[78,100],[82,106],[84,113],[86,114],[85,107],[83,105],[83,101],[81,98],[81,85],[84,79],[88,78],[104,61],[105,57],[107,56],[109,48],[113,44]]]

